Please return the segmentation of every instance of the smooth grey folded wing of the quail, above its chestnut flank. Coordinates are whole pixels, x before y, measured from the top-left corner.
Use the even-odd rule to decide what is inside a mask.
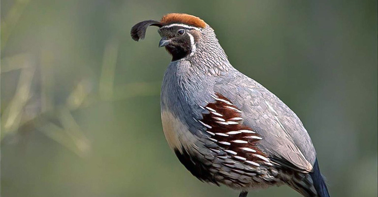
[[[276,164],[311,172],[315,148],[296,114],[273,93],[239,73],[219,81],[214,91],[241,109],[244,124],[263,136],[259,145]],[[227,87],[227,88],[225,88]]]

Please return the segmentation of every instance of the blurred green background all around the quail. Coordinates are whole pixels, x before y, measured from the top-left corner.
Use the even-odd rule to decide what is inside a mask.
[[[377,1],[1,0],[1,197],[236,197],[169,149],[159,92],[170,12],[301,118],[333,197],[377,197]],[[299,197],[288,187],[251,197]]]

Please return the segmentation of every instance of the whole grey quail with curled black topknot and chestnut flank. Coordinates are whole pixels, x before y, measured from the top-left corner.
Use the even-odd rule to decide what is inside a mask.
[[[205,21],[169,13],[134,25],[132,39],[144,39],[149,26],[158,27],[158,46],[172,56],[161,86],[162,129],[193,176],[239,197],[282,185],[304,197],[330,197],[301,120],[230,64]]]

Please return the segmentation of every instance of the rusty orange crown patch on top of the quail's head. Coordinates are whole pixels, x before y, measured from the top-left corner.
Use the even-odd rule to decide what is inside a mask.
[[[170,13],[161,18],[160,23],[165,26],[173,23],[185,24],[197,28],[205,28],[206,23],[199,17],[184,14],[184,13]]]

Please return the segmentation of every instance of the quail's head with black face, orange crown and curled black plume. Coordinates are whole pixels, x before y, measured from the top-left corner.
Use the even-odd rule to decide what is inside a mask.
[[[131,37],[135,41],[144,39],[147,28],[157,26],[161,36],[159,47],[165,47],[172,55],[172,61],[191,56],[196,51],[196,45],[202,36],[202,30],[207,24],[198,17],[170,13],[160,21],[148,20],[137,23],[131,28]]]

